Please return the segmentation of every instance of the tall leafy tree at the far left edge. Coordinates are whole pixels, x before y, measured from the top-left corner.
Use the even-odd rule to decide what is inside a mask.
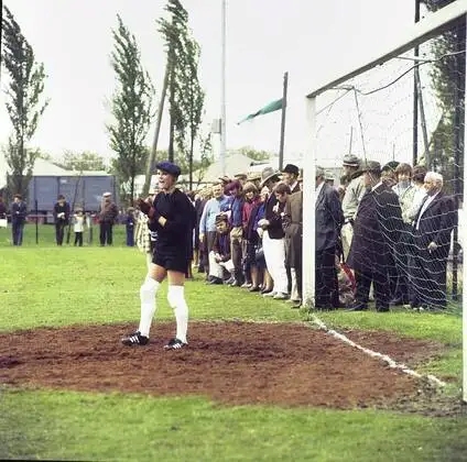
[[[13,125],[6,151],[10,168],[8,188],[26,196],[37,156],[37,151],[28,148],[28,143],[48,105],[41,98],[46,75],[44,64],[35,61],[34,51],[13,14],[7,7],[3,10],[2,63],[9,76],[6,107]]]

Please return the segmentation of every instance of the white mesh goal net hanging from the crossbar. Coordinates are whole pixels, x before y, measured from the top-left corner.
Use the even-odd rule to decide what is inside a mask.
[[[343,158],[349,154],[379,162],[383,183],[397,194],[395,212],[387,189],[359,197],[349,231],[352,249],[345,252],[359,268],[357,299],[365,296],[358,294],[358,286],[366,292],[368,280],[358,280],[363,278],[372,280],[377,304],[385,290],[393,301],[402,295],[406,309],[460,314],[465,33],[464,25],[455,25],[316,99],[316,163],[333,172],[341,197],[349,186]],[[393,170],[400,164],[414,167],[422,184],[412,182],[408,191],[403,177],[397,183]],[[435,174],[425,185],[423,167]],[[437,175],[442,194],[426,199]],[[376,287],[382,282],[385,288]]]

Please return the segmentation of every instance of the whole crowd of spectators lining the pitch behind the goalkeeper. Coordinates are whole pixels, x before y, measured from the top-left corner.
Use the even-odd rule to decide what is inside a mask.
[[[316,167],[314,307],[378,312],[405,305],[416,310],[444,309],[452,232],[458,204],[443,191],[439,173],[421,165],[343,158],[338,184]],[[186,193],[196,209],[193,264],[209,285],[241,287],[274,300],[302,305],[303,191],[298,167],[281,172],[224,176],[196,193]],[[21,245],[26,206],[15,195],[9,208],[13,245]],[[65,197],[54,206],[56,243],[73,224],[75,245],[83,245],[89,217],[70,210]],[[120,213],[111,194],[102,195],[97,213],[100,245],[112,244],[112,228],[126,226],[126,244],[138,245],[151,262],[156,235],[146,218],[130,207]],[[0,226],[7,207],[0,200]],[[305,249],[306,252],[306,249]]]

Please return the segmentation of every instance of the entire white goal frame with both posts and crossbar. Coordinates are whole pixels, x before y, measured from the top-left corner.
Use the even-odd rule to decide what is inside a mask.
[[[317,148],[317,110],[316,99],[326,90],[333,89],[346,80],[352,79],[356,76],[361,75],[368,70],[382,65],[390,59],[401,56],[404,53],[412,51],[414,47],[422,45],[426,41],[439,35],[446,29],[448,29],[456,20],[463,16],[467,20],[467,0],[456,0],[453,3],[444,7],[437,12],[430,13],[426,18],[422,19],[419,23],[414,23],[410,30],[406,31],[404,36],[398,40],[398,43],[391,47],[391,50],[381,53],[373,59],[369,59],[363,63],[360,67],[350,69],[348,73],[336,76],[333,80],[325,82],[324,85],[312,89],[306,97],[306,147],[303,161],[303,210],[314,210],[315,208],[315,172],[318,158]],[[467,44],[464,46],[464,51],[467,50]],[[466,76],[464,76],[464,79]],[[467,82],[464,88],[467,88]],[[465,98],[467,101],[467,97]],[[466,111],[466,108],[464,108]],[[465,120],[467,120],[467,114]],[[464,160],[466,158],[466,144],[467,144],[467,123],[464,124],[464,152],[461,153],[461,165],[465,165]],[[343,154],[344,155],[344,154]],[[463,197],[464,200],[467,197],[467,168],[464,168],[463,177]],[[464,206],[459,210],[459,215],[463,215],[464,223],[467,222],[467,207]],[[309,215],[307,216],[309,217]],[[459,217],[460,221],[460,217]],[[464,230],[465,232],[465,230]],[[463,267],[463,280],[467,280],[467,265],[464,257]],[[303,302],[304,306],[313,307],[315,297],[315,220],[304,219],[303,220]],[[467,402],[467,297],[461,297],[463,302],[463,399]]]

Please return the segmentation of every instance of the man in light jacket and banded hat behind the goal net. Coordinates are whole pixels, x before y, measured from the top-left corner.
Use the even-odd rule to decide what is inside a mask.
[[[347,258],[354,234],[352,224],[358,205],[365,193],[360,160],[354,154],[347,154],[343,160],[344,177],[347,186],[343,198],[344,226],[341,229],[344,258]]]

